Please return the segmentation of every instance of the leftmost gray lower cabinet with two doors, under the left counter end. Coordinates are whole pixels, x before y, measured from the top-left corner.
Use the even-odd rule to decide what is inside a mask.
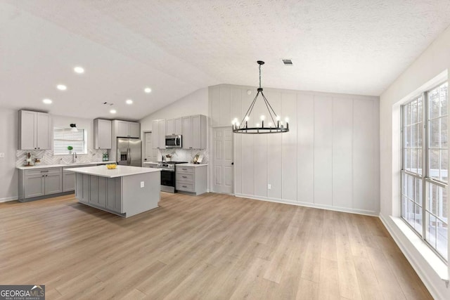
[[[19,200],[29,201],[36,197],[63,192],[61,168],[19,170]]]

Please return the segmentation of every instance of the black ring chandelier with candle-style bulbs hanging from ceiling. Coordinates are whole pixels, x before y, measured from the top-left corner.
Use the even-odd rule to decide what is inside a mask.
[[[231,124],[233,124],[233,133],[250,133],[250,134],[258,134],[258,133],[283,133],[289,131],[289,119],[285,119],[285,126],[283,125],[283,122],[280,121],[280,116],[276,115],[276,112],[270,105],[269,101],[266,99],[266,96],[264,96],[264,93],[262,92],[261,87],[261,66],[264,65],[264,61],[258,60],[257,61],[259,65],[259,88],[257,89],[257,94],[255,98],[253,99],[252,103],[250,104],[250,107],[248,107],[247,112],[245,113],[242,121],[239,123],[238,118],[234,118]],[[253,107],[255,107],[255,102],[258,98],[258,96],[261,95],[262,99],[264,100],[264,104],[266,105],[267,111],[269,112],[269,120],[272,120],[272,122],[269,122],[266,126],[264,126],[264,121],[266,117],[262,115],[260,117],[261,124],[257,123],[254,127],[248,126],[248,121],[250,119],[250,114],[252,113]],[[269,125],[269,126],[267,126]]]

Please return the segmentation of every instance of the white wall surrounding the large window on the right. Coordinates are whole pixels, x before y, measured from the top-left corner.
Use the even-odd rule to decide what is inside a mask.
[[[450,289],[430,268],[390,216],[399,216],[400,104],[436,84],[450,67],[450,27],[447,28],[380,96],[380,218],[437,299],[450,299]]]

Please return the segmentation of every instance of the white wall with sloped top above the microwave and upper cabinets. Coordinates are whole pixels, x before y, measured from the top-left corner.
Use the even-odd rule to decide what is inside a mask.
[[[141,132],[152,130],[152,121],[155,119],[173,119],[190,115],[208,115],[208,89],[199,89],[188,96],[176,100],[161,110],[153,112],[141,119]],[[143,133],[142,133],[143,134]],[[142,136],[143,139],[143,136]]]

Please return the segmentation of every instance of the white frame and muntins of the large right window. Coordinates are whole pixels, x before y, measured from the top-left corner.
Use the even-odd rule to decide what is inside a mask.
[[[426,91],[423,91],[421,93],[419,93],[418,95],[414,96],[411,98],[411,100],[401,104],[401,109],[400,109],[400,134],[401,134],[401,169],[400,169],[400,219],[404,221],[404,223],[406,223],[407,226],[409,226],[409,228],[411,228],[411,230],[413,230],[413,233],[415,233],[416,235],[418,235],[418,237],[420,237],[420,240],[423,240],[423,242],[425,242],[425,244],[428,245],[428,247],[432,250],[432,252],[435,252],[435,254],[439,257],[439,259],[442,259],[442,261],[444,261],[444,263],[448,264],[448,258],[446,259],[444,256],[442,256],[442,254],[439,253],[439,251],[437,250],[437,240],[435,241],[436,243],[436,247],[432,244],[430,244],[430,242],[427,240],[427,227],[428,227],[428,223],[429,223],[429,216],[428,214],[430,214],[430,216],[435,217],[435,219],[439,219],[439,221],[442,221],[443,223],[446,223],[447,225],[447,230],[449,230],[449,222],[448,222],[448,218],[447,218],[447,222],[445,222],[444,220],[442,220],[439,216],[436,216],[436,214],[434,214],[432,212],[432,209],[428,209],[428,197],[429,197],[429,183],[431,183],[432,185],[437,185],[438,187],[444,188],[447,190],[447,187],[449,185],[449,178],[447,176],[447,182],[444,182],[442,180],[437,180],[436,178],[432,178],[430,177],[430,170],[429,170],[429,162],[430,162],[430,155],[429,155],[429,150],[430,150],[430,145],[429,145],[429,140],[430,140],[430,116],[429,116],[429,99],[428,99],[428,94],[430,91],[439,88],[439,86],[442,86],[443,84],[447,84],[447,107],[449,106],[449,93],[448,93],[448,79],[444,80],[444,81],[440,81],[439,84],[436,84],[435,86],[432,86],[428,89],[426,89]],[[406,125],[405,122],[406,120],[404,119],[406,114],[404,113],[405,107],[406,105],[409,105],[410,103],[412,103],[415,100],[418,100],[418,98],[422,98],[422,128],[420,130],[422,130],[422,174],[418,173],[418,167],[417,167],[417,173],[414,173],[413,171],[409,171],[405,169],[405,145],[406,145],[406,134],[404,134],[404,129],[406,129]],[[448,124],[448,119],[449,119],[449,113],[448,113],[448,108],[447,108],[447,114],[445,117],[447,117],[447,124]],[[439,117],[435,117],[433,119],[441,119],[442,115]],[[432,120],[433,120],[432,119]],[[417,120],[418,121],[418,120]],[[416,122],[415,124],[420,124],[420,122]],[[409,124],[410,128],[411,128],[411,123]],[[448,126],[448,125],[447,125]],[[418,129],[419,130],[419,129]],[[448,130],[448,127],[447,127]],[[440,131],[439,131],[439,134]],[[448,134],[448,133],[447,133]],[[440,138],[440,136],[439,136]],[[410,137],[411,139],[411,137]],[[440,145],[439,142],[439,147],[441,147],[442,145]],[[409,148],[411,149],[411,148]],[[417,148],[420,149],[420,148]],[[442,148],[439,148],[439,151],[442,150]],[[447,150],[449,150],[449,146],[448,146],[448,142],[447,142]],[[439,152],[440,153],[440,152]],[[439,154],[440,155],[440,154]],[[411,154],[409,155],[409,159],[410,159],[410,169],[411,169]],[[417,161],[418,162],[418,161]],[[441,164],[440,164],[440,159],[439,159],[439,170],[441,168]],[[447,164],[447,169],[449,169],[449,164]],[[413,178],[418,178],[422,181],[422,195],[421,195],[421,199],[420,199],[420,206],[421,206],[421,214],[422,214],[422,228],[421,228],[421,233],[418,232],[418,230],[416,228],[414,228],[413,226],[411,226],[411,223],[409,223],[408,221],[408,216],[403,216],[403,211],[402,211],[402,198],[404,197],[404,178],[406,178],[406,176],[412,176]],[[415,179],[414,179],[415,180]],[[408,189],[408,183],[406,183],[406,189]],[[414,193],[416,191],[414,190]],[[447,195],[448,197],[448,195]],[[409,199],[409,197],[406,197],[407,201],[410,201],[411,199]],[[447,200],[447,205],[449,205],[449,202]],[[435,238],[437,238],[437,232],[435,233]],[[447,240],[447,248],[450,247],[449,246],[449,240]],[[448,251],[448,250],[447,250]]]

